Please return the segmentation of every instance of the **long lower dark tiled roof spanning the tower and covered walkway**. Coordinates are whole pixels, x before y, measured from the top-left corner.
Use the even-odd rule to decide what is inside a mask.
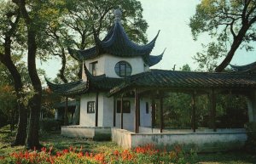
[[[105,75],[92,76],[88,70],[85,71],[87,82],[55,84],[47,81],[47,83],[53,92],[64,96],[96,91],[106,91],[111,96],[131,88],[256,89],[256,74],[149,70],[125,78],[113,78]]]

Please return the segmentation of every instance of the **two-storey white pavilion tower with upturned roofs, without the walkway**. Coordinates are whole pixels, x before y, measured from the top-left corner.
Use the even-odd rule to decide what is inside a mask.
[[[74,59],[84,63],[82,80],[61,85],[51,82],[48,84],[55,93],[64,96],[79,95],[79,125],[112,127],[123,122],[122,126],[125,129],[134,131],[134,99],[124,98],[121,109],[121,99],[109,97],[108,93],[125,82],[127,76],[149,71],[150,66],[160,62],[164,53],[150,55],[158,34],[148,44],[138,45],[127,37],[120,23],[120,10],[116,10],[115,15],[114,24],[108,35],[102,41],[96,38],[96,46],[85,50],[68,48]],[[151,126],[150,104],[148,98],[141,102],[141,108],[147,108],[141,112],[143,126]],[[116,110],[115,115],[113,110]],[[122,121],[121,110],[124,115]]]

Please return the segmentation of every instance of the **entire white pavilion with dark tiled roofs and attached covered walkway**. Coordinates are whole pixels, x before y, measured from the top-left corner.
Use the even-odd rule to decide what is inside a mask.
[[[217,93],[233,93],[247,96],[249,121],[256,122],[256,74],[244,73],[248,66],[233,65],[236,71],[230,73],[150,69],[151,66],[160,62],[165,52],[164,50],[159,55],[151,54],[159,32],[148,44],[139,45],[127,37],[121,25],[120,10],[115,10],[114,14],[115,20],[107,36],[102,40],[96,37],[96,45],[94,47],[85,50],[68,48],[69,54],[74,59],[83,62],[82,79],[78,82],[67,84],[55,84],[47,81],[49,88],[53,92],[65,97],[79,99],[80,105],[76,109],[76,111],[79,111],[79,115],[77,115],[79,116],[79,126],[77,127],[125,129],[129,133],[131,132],[130,138],[126,139],[124,137],[127,133],[116,137],[117,131],[112,132],[112,138],[119,140],[116,141],[117,143],[124,147],[133,147],[140,142],[141,144],[146,144],[149,138],[143,135],[142,139],[139,139],[138,133],[156,132],[153,129],[156,112],[159,112],[160,116],[159,133],[163,132],[163,98],[166,93],[170,92],[190,93],[192,95],[192,133],[196,131],[195,96],[197,94],[209,95],[209,101],[211,102],[209,109],[211,115],[210,128],[212,128],[212,132],[218,132],[215,125]],[[77,128],[75,126],[71,127]],[[147,127],[150,127],[148,131]],[[63,129],[65,128],[67,130],[68,127],[63,127]],[[73,136],[90,137],[84,131],[79,134],[77,129],[68,132],[73,133]],[[237,139],[244,142],[246,134],[241,133],[237,133],[236,137],[238,136]],[[206,136],[208,134],[206,133]],[[213,135],[214,133],[210,134]],[[233,135],[234,133],[224,134]],[[96,133],[91,135],[94,137],[93,135],[96,135]],[[218,139],[219,135],[219,133],[218,136],[216,135],[216,139]],[[137,139],[132,140],[135,136],[137,136]],[[151,140],[148,143],[157,142],[156,138],[158,137],[160,135],[155,135],[154,139],[150,138]],[[192,138],[190,136],[192,140],[194,137],[196,138],[195,135]],[[160,142],[160,139],[158,142]],[[204,139],[201,139],[199,144],[207,143],[209,139],[215,138],[210,136],[209,139],[207,137]],[[195,139],[195,142],[197,141],[198,139]],[[174,142],[173,138],[169,142]],[[211,142],[214,143],[213,141]],[[233,140],[229,142],[233,142]]]

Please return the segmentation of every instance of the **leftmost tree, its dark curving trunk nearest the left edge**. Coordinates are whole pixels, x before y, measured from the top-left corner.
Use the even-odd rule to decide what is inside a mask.
[[[1,39],[0,47],[0,61],[9,70],[15,86],[15,94],[17,99],[23,99],[24,94],[22,94],[23,83],[21,81],[20,72],[15,65],[14,58],[12,58],[12,40],[17,39],[17,28],[20,21],[20,14],[15,8],[15,6],[10,2],[1,3],[1,26],[0,33],[3,37]],[[19,125],[15,138],[15,144],[25,144],[26,141],[26,106],[22,102],[18,101],[19,106]]]

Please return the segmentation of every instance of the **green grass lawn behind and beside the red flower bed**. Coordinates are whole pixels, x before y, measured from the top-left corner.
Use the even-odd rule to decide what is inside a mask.
[[[10,147],[15,139],[15,132],[11,133],[9,127],[0,128],[0,156],[9,156],[14,151],[25,150],[24,146]],[[49,148],[53,146],[54,151],[68,149],[70,146],[83,147],[88,152],[102,152],[111,150],[122,150],[113,142],[96,142],[90,139],[66,138],[60,135],[60,132],[40,133],[41,144]],[[199,154],[198,163],[202,164],[256,164],[256,155],[247,154],[244,151],[234,151],[225,153]]]

